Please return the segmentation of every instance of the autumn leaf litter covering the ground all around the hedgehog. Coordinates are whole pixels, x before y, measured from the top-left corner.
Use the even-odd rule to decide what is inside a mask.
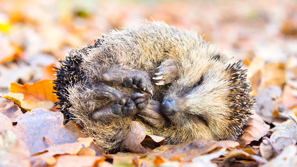
[[[297,166],[297,6],[272,2],[1,1],[0,166]],[[149,16],[244,60],[257,107],[237,142],[163,145],[132,122],[122,152],[108,154],[54,112],[58,58]]]

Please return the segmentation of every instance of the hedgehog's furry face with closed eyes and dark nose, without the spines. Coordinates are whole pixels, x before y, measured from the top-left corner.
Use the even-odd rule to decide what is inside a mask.
[[[192,64],[191,68],[186,69],[190,74],[182,73],[184,76],[173,81],[161,104],[163,114],[177,126],[189,123],[208,126],[212,119],[208,118],[214,113],[221,113],[216,115],[220,119],[230,115],[228,94],[231,88],[226,72],[215,68],[215,62],[205,69],[195,70],[193,66],[201,67],[200,64]]]

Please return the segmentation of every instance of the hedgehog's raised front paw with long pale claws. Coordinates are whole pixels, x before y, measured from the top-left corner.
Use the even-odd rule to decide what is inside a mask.
[[[173,59],[166,59],[157,67],[158,72],[155,73],[156,85],[166,85],[175,80],[178,72],[178,68]]]

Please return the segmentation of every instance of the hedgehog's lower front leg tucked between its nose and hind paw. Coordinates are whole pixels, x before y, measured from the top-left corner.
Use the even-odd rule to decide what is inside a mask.
[[[162,116],[160,102],[157,100],[150,100],[145,110],[138,111],[138,116],[156,128],[164,128],[166,124],[166,119]]]

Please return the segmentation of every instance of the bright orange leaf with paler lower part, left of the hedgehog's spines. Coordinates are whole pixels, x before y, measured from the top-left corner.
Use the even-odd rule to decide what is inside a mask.
[[[42,80],[32,85],[27,83],[24,85],[11,83],[8,96],[20,100],[21,107],[23,108],[36,109],[43,107],[48,110],[55,110],[53,105],[58,99],[57,96],[53,94],[54,84],[51,82],[52,80]]]

